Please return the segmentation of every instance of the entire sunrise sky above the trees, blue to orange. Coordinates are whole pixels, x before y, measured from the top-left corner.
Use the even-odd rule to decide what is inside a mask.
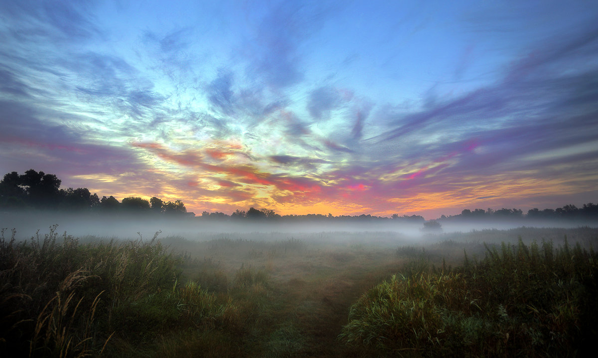
[[[0,2],[1,175],[196,214],[598,202],[593,0]]]

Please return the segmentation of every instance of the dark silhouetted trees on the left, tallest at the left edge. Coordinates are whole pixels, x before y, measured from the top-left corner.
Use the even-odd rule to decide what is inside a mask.
[[[155,196],[149,200],[129,196],[122,201],[114,196],[91,194],[87,188],[60,189],[62,180],[54,174],[29,169],[25,174],[10,172],[0,181],[0,208],[42,209],[65,211],[95,211],[102,213],[155,213],[180,215],[187,213],[185,204],[176,200],[162,201]]]

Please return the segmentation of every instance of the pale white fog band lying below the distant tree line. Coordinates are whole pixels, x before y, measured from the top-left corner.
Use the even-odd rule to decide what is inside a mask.
[[[362,241],[387,242],[421,242],[429,243],[441,239],[441,233],[468,233],[472,230],[507,230],[517,227],[562,227],[574,228],[581,226],[598,227],[597,222],[581,222],[572,220],[539,221],[539,220],[511,220],[484,221],[460,220],[439,221],[442,230],[426,231],[423,222],[405,222],[401,220],[206,220],[202,217],[155,217],[149,215],[102,215],[64,213],[58,211],[27,211],[0,213],[0,228],[5,228],[5,237],[11,235],[10,230],[16,230],[16,238],[29,239],[49,231],[50,226],[58,225],[57,232],[66,232],[79,238],[95,236],[96,238],[115,239],[151,239],[155,233],[158,237],[182,236],[193,241],[205,241],[219,237],[243,238],[252,240],[275,241],[286,238],[301,238],[318,240],[325,234],[327,240],[343,241],[355,240],[362,237]],[[343,235],[350,233],[351,235]],[[363,235],[355,235],[363,233]],[[446,235],[440,235],[446,237]]]

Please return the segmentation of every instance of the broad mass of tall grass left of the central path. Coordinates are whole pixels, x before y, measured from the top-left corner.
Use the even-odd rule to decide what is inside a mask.
[[[111,342],[154,342],[173,329],[213,329],[236,307],[189,281],[157,239],[81,245],[57,227],[0,236],[0,356],[114,354]]]

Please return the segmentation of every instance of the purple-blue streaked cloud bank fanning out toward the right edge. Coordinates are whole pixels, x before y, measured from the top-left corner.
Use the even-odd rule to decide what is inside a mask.
[[[390,144],[423,138],[422,144],[412,146],[410,153],[425,157],[434,151],[450,150],[446,144],[430,144],[426,136],[452,135],[449,143],[460,138],[479,138],[489,153],[453,169],[470,165],[472,170],[486,171],[499,163],[508,167],[515,157],[591,140],[596,130],[591,128],[596,126],[590,122],[598,112],[598,68],[586,66],[582,72],[562,72],[553,65],[568,57],[578,60],[580,48],[593,48],[598,55],[598,38],[583,34],[581,38],[563,40],[558,47],[534,56],[533,60],[525,57],[513,63],[505,71],[504,80],[493,86],[419,113],[395,117],[390,122],[395,128],[377,139]],[[502,166],[496,171],[505,169]]]

